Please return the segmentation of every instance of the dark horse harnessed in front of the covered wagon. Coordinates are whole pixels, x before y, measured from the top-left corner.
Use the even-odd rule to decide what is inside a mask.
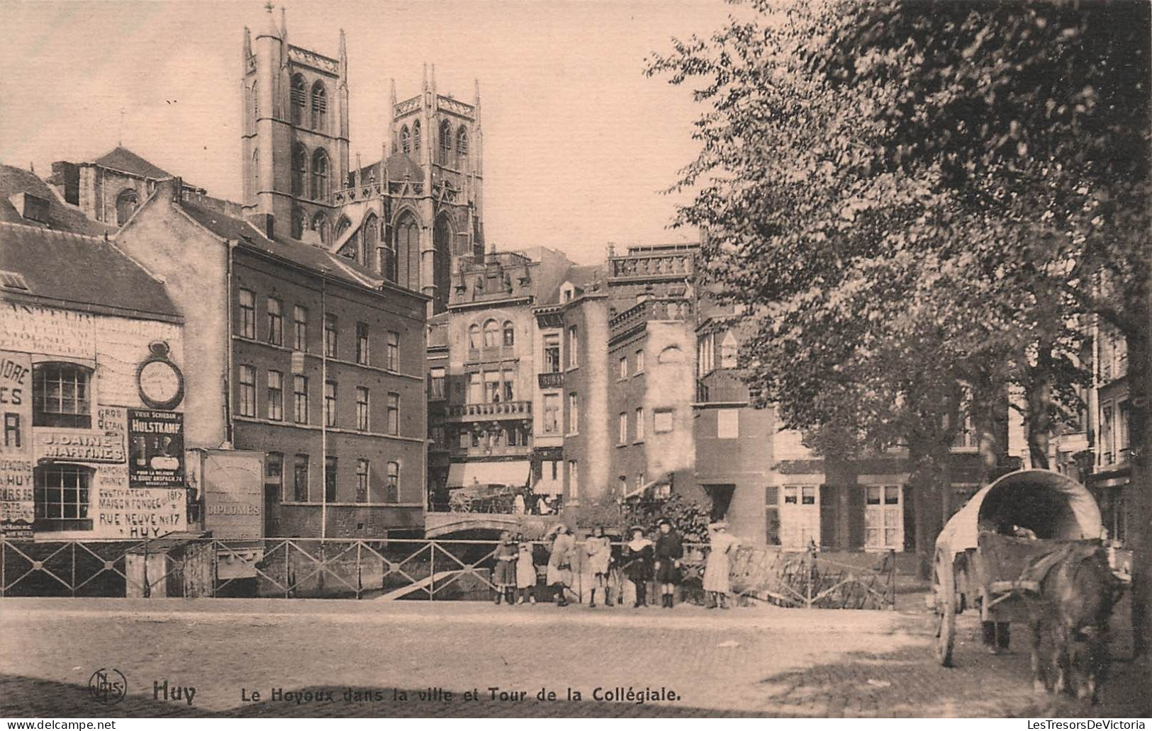
[[[1029,612],[1033,688],[1047,692],[1045,676],[1052,675],[1053,693],[1094,705],[1108,671],[1108,618],[1120,587],[1107,554],[1094,542],[1068,543],[1033,562],[1029,573],[1040,587]],[[1041,652],[1045,639],[1048,653]]]

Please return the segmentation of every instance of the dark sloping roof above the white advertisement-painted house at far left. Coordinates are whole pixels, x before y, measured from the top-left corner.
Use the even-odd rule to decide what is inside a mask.
[[[180,317],[164,283],[103,236],[0,223],[0,269],[23,277],[16,294]]]

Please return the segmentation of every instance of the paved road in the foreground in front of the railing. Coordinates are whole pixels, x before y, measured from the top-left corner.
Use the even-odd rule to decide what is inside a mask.
[[[1051,716],[1147,713],[1124,672],[1098,709],[1031,693],[1028,656],[958,668],[918,611],[589,609],[339,600],[0,600],[0,714],[227,716]],[[116,668],[128,698],[88,679]],[[192,703],[156,684],[196,688]],[[1122,688],[1127,686],[1128,692]],[[492,699],[491,687],[508,692]],[[636,703],[612,688],[667,688]],[[274,688],[296,696],[273,700]],[[420,692],[433,688],[432,696]],[[453,694],[448,700],[434,688]],[[545,688],[555,700],[537,699]],[[569,688],[581,694],[569,699]],[[596,688],[604,688],[599,692]],[[359,694],[344,698],[353,690]],[[479,699],[465,699],[478,691]],[[252,693],[260,699],[251,702]],[[311,694],[309,698],[308,694]],[[331,693],[331,699],[328,694]],[[403,698],[401,695],[403,694]],[[600,699],[593,698],[599,695]],[[1134,705],[1135,703],[1135,705]],[[1140,708],[1140,706],[1145,708]],[[1140,714],[1143,715],[1143,714]]]

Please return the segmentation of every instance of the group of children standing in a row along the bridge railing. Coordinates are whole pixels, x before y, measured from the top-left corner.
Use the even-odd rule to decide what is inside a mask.
[[[550,533],[552,550],[545,576],[558,607],[568,606],[568,593],[575,573],[579,573],[579,588],[589,591],[589,607],[596,607],[597,593],[604,606],[623,603],[623,581],[635,587],[634,608],[647,606],[647,585],[655,581],[660,587],[661,606],[673,607],[676,585],[682,579],[681,558],[684,555],[680,534],[668,520],[659,521],[655,540],[650,540],[641,526],[629,531],[630,540],[614,548],[602,527],[597,527],[584,536],[577,546],[575,536],[566,525],[558,525]],[[711,548],[704,571],[704,591],[708,596],[707,607],[727,609],[729,592],[729,555],[740,545],[727,534],[727,525],[714,523],[708,526]],[[552,538],[552,534],[555,534]],[[523,535],[513,536],[505,532],[495,551],[497,565],[492,582],[495,585],[495,603],[535,604],[538,582],[537,565],[532,556],[532,543]],[[543,599],[543,597],[541,597]]]

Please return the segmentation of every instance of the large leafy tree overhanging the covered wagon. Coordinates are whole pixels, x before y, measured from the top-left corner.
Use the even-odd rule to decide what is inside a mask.
[[[707,105],[676,223],[707,230],[706,275],[752,312],[746,376],[786,426],[902,442],[932,493],[957,384],[986,413],[1017,384],[1043,462],[1102,321],[1129,343],[1139,443],[1147,28],[1142,2],[751,0],[650,60]]]

